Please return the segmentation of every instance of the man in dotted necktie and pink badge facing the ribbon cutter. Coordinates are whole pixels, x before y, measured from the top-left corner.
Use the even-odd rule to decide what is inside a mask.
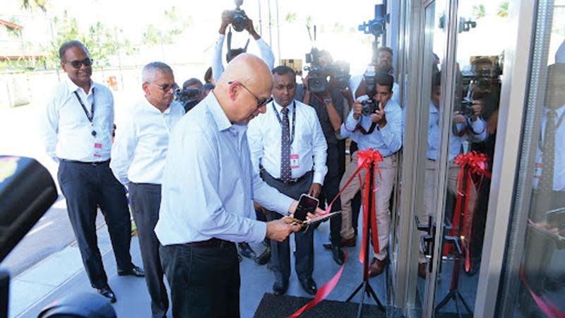
[[[253,169],[262,167],[261,177],[283,194],[299,199],[301,194],[321,192],[326,167],[326,138],[316,110],[295,100],[296,74],[288,66],[273,69],[273,98],[266,114],[249,124],[248,139]],[[280,213],[269,211],[270,220]],[[314,295],[314,228],[295,233],[295,269],[302,288]],[[271,242],[275,272],[273,292],[283,295],[290,277],[290,242]]]

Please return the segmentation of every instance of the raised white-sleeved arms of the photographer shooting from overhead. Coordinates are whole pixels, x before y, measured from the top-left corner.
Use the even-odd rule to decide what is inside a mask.
[[[222,23],[220,24],[220,30],[218,30],[218,33],[220,33],[220,37],[218,37],[218,42],[216,42],[214,57],[212,59],[212,74],[213,74],[214,83],[218,82],[218,79],[224,72],[224,66],[222,64],[222,49],[224,47],[225,30],[232,23],[233,16],[234,16],[234,11],[226,10],[222,12]],[[273,65],[275,64],[275,54],[273,54],[273,50],[270,49],[267,42],[261,39],[261,36],[256,33],[255,28],[253,26],[253,20],[251,20],[248,17],[246,18],[246,21],[247,24],[245,30],[247,30],[249,35],[251,35],[251,37],[255,39],[255,42],[257,43],[257,47],[261,52],[261,59],[265,61],[269,69],[273,69]],[[227,63],[230,63],[230,61],[234,57],[237,57],[238,54],[242,54],[246,52],[246,49],[247,47],[244,47],[243,49],[231,49],[231,51],[227,52],[226,54]]]

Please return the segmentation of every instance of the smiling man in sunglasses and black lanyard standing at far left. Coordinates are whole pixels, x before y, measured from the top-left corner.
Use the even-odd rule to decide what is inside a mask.
[[[97,247],[97,208],[106,220],[118,275],[144,273],[131,263],[126,192],[109,167],[114,98],[107,87],[90,79],[92,60],[81,42],[61,45],[59,59],[68,78],[59,83],[42,112],[42,137],[47,154],[59,163],[59,186],[90,284],[115,302]]]

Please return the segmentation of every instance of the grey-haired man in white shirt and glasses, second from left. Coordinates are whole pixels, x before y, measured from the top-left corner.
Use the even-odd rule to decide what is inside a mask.
[[[159,218],[169,136],[184,115],[184,107],[172,101],[176,85],[167,64],[155,61],[145,65],[142,78],[145,96],[131,107],[117,131],[110,167],[129,189],[152,317],[162,318],[167,316],[169,298],[163,282],[159,240],[153,229]]]

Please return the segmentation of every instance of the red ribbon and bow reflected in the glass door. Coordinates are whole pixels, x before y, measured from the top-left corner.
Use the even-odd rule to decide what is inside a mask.
[[[451,232],[449,235],[459,235],[462,239],[463,248],[465,249],[465,271],[471,270],[471,255],[470,255],[470,242],[472,235],[472,218],[475,211],[469,211],[469,199],[472,185],[474,185],[472,176],[478,175],[481,177],[491,177],[491,172],[487,170],[488,158],[483,153],[471,151],[470,153],[460,153],[453,160],[453,163],[459,165],[459,173],[457,175],[457,183],[459,189],[457,193],[457,201],[455,206],[455,213],[453,213],[453,222]],[[480,182],[482,183],[482,181]],[[463,189],[465,184],[465,189]],[[463,206],[463,213],[460,213]],[[463,221],[460,220],[463,214]],[[463,231],[459,232],[459,223],[463,222]],[[451,251],[451,246],[446,247],[445,254]]]

